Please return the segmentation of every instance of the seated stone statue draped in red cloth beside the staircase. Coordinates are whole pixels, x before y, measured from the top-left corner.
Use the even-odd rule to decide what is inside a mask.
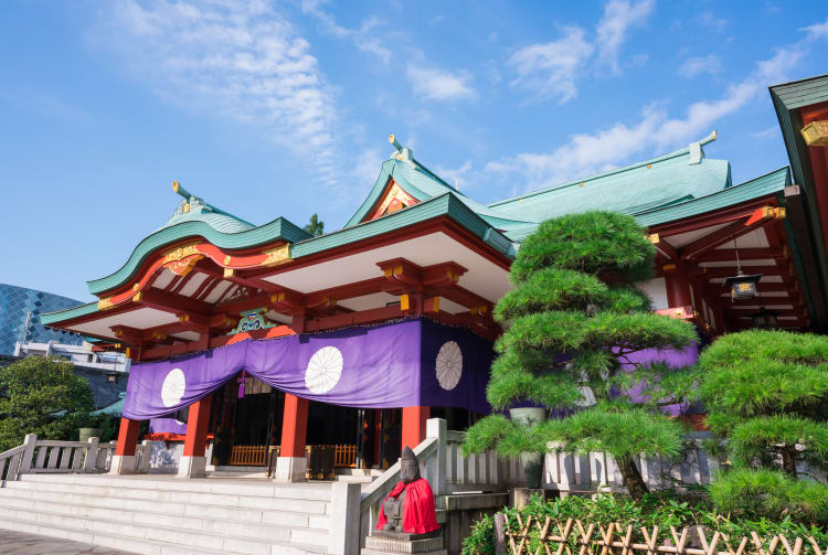
[[[408,447],[400,458],[400,481],[382,502],[376,530],[426,534],[438,530],[434,493],[420,476],[420,462]]]

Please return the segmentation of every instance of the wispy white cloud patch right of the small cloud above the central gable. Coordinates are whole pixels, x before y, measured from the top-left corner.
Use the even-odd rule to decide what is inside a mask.
[[[584,39],[584,30],[563,28],[563,36],[545,44],[531,44],[509,57],[518,77],[512,85],[522,86],[535,99],[554,98],[564,104],[577,95],[575,78],[592,56],[593,46]]]

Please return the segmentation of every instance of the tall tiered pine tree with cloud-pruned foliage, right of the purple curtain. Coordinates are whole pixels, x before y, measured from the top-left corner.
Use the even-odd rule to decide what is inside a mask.
[[[635,288],[650,276],[654,258],[635,220],[608,212],[549,220],[522,243],[510,274],[516,288],[495,309],[507,330],[495,345],[487,398],[498,410],[529,399],[572,414],[534,427],[490,416],[470,428],[466,452],[493,448],[516,457],[545,452],[550,442],[570,452],[605,451],[630,495],[647,493],[635,458],[680,451],[681,426],[659,408],[675,403],[671,389],[687,389],[691,378],[629,355],[696,340],[692,325],[652,313]],[[646,403],[619,395],[641,381],[652,385]],[[580,409],[587,391],[595,404]]]

